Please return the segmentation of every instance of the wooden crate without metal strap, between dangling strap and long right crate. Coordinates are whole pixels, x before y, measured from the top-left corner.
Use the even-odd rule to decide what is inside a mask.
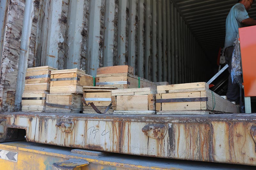
[[[133,88],[112,90],[114,114],[155,114],[156,89]]]

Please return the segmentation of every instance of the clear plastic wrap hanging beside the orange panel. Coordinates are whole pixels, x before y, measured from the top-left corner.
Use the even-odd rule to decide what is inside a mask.
[[[241,51],[240,51],[240,42],[239,35],[237,35],[235,41],[235,47],[232,55],[231,62],[231,79],[233,84],[242,85],[243,82],[243,72],[242,72],[242,63],[241,63]]]

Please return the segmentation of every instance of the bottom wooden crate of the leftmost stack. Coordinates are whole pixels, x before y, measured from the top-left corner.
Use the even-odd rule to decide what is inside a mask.
[[[22,94],[22,111],[24,112],[44,112],[45,100],[48,91],[24,92]]]

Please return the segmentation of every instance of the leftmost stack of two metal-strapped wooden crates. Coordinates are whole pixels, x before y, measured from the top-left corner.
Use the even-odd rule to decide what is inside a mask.
[[[46,94],[50,91],[50,66],[28,68],[26,71],[25,88],[22,94],[22,111],[45,111]]]

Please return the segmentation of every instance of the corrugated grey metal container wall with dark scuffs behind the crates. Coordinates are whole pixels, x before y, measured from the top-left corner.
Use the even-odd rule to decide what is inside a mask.
[[[12,111],[24,0],[4,0],[0,106]],[[206,57],[169,0],[34,0],[28,67],[79,68],[128,64],[151,81],[206,81]],[[28,30],[30,31],[30,30]]]

